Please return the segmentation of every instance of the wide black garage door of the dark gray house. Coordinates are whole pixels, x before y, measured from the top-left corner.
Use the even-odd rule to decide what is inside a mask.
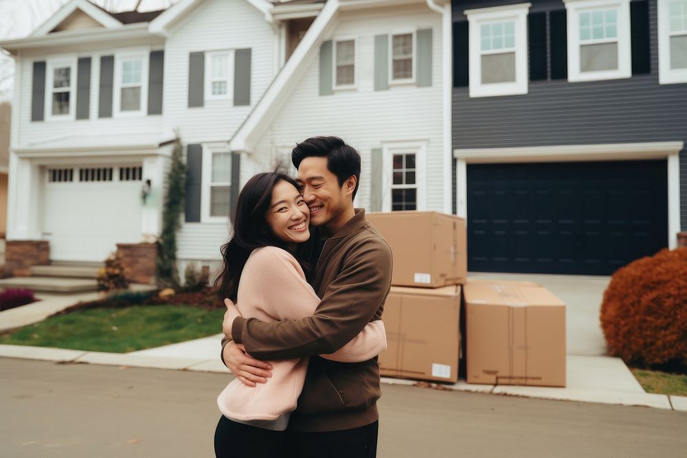
[[[467,166],[473,272],[609,275],[668,244],[666,161]]]

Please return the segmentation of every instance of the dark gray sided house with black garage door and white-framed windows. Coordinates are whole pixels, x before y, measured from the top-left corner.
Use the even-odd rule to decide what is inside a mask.
[[[684,0],[453,1],[453,209],[470,271],[609,275],[676,246],[685,43]]]

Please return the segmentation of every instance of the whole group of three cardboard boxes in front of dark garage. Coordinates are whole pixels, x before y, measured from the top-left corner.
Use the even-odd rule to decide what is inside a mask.
[[[466,356],[469,383],[565,386],[560,299],[531,282],[467,280],[462,218],[396,211],[368,220],[394,253],[381,375],[457,382]]]

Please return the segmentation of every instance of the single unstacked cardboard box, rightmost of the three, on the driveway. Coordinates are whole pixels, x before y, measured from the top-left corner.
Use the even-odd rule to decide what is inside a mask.
[[[565,387],[565,304],[541,286],[468,282],[468,383]]]

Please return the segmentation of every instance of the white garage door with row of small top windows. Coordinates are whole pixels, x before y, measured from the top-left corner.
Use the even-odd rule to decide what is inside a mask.
[[[50,259],[102,262],[141,242],[141,165],[47,168],[43,235]]]

